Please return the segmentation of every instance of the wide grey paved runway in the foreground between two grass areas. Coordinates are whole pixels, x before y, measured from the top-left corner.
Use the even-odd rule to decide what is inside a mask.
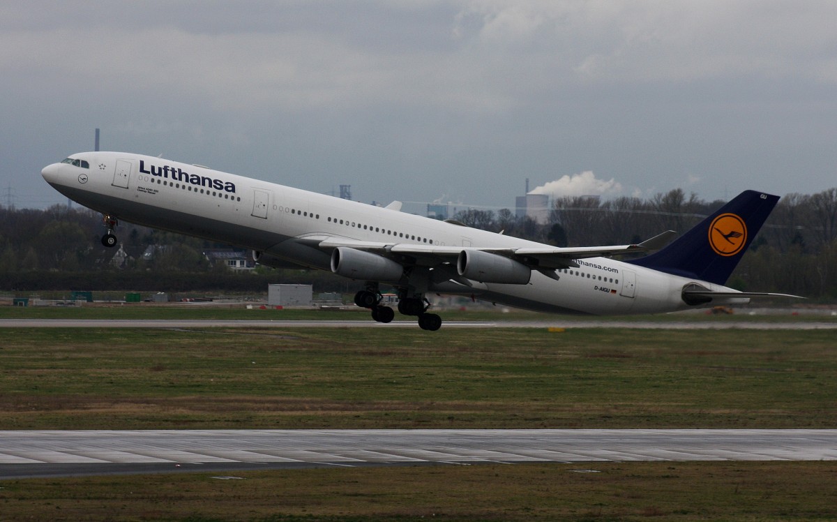
[[[0,479],[242,469],[835,460],[837,430],[0,432]]]

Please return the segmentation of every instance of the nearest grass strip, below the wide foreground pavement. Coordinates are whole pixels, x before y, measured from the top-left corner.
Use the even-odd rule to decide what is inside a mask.
[[[829,520],[834,463],[327,468],[0,483],[3,520]],[[229,476],[229,475],[228,475]]]

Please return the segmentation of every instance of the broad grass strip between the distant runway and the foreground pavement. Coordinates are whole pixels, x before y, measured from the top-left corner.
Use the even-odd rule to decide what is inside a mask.
[[[829,331],[4,334],[4,430],[837,427]]]

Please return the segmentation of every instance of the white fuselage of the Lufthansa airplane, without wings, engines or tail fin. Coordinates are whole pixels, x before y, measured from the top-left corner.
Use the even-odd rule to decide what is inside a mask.
[[[544,246],[161,158],[125,152],[85,152],[71,158],[86,162],[87,168],[54,163],[44,168],[44,178],[90,209],[138,225],[239,245],[289,265],[331,269],[328,252],[300,241],[316,237],[415,245]],[[527,284],[442,284],[430,291],[552,313],[624,315],[696,308],[683,302],[680,292],[698,281],[604,257],[578,264],[557,271],[557,280],[532,271]],[[729,290],[700,284],[713,291]],[[746,302],[735,300],[742,301]]]

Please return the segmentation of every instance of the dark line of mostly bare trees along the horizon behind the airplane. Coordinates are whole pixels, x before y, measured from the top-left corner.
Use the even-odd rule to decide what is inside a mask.
[[[636,243],[664,230],[683,232],[725,202],[675,189],[650,199],[564,198],[546,224],[511,209],[469,209],[465,225],[557,246]],[[0,291],[106,290],[264,292],[268,282],[311,283],[315,292],[351,292],[355,283],[319,271],[259,266],[234,273],[213,266],[204,251],[225,245],[122,223],[122,253],[100,244],[101,214],[89,209],[0,207]],[[149,246],[152,255],[148,255]],[[823,301],[837,298],[837,189],[788,194],[753,241],[730,286],[785,292]]]

